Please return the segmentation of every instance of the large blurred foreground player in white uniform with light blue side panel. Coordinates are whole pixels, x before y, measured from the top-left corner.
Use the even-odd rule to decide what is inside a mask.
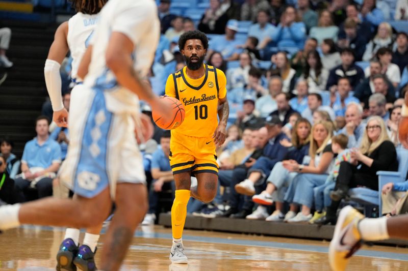
[[[77,199],[45,198],[0,207],[0,229],[20,224],[91,228],[116,203],[101,251],[101,270],[118,270],[147,210],[142,157],[134,136],[138,96],[167,117],[168,106],[139,79],[147,74],[160,35],[153,0],[110,0],[100,12],[71,96],[71,140],[60,179]],[[90,64],[89,64],[90,63]],[[54,121],[67,124],[64,109]]]

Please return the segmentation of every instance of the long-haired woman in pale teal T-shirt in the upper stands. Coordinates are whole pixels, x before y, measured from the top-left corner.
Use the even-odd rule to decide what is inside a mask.
[[[334,24],[331,13],[328,10],[323,10],[320,12],[318,25],[310,29],[309,37],[315,38],[319,44],[324,39],[332,39],[336,42],[338,33],[339,27]]]

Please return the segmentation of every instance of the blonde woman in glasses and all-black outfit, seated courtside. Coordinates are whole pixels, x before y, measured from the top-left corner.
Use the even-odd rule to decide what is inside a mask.
[[[315,224],[336,224],[337,208],[350,188],[367,187],[378,191],[379,170],[397,171],[398,160],[394,143],[380,116],[368,119],[360,148],[351,150],[350,162],[341,162],[335,190],[330,193],[331,204],[325,217]]]

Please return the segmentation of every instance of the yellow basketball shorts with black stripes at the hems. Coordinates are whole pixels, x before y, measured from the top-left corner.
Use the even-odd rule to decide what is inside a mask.
[[[171,133],[169,159],[173,174],[208,172],[218,175],[215,143],[211,137]]]

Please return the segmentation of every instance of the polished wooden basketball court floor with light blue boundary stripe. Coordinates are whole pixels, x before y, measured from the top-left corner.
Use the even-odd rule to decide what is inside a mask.
[[[4,232],[0,270],[55,270],[63,237],[63,228],[24,226]],[[139,227],[121,270],[329,270],[325,241],[195,230],[185,230],[183,240],[189,264],[170,264],[171,229]],[[101,235],[98,246],[103,242]],[[408,271],[408,249],[363,247],[348,270]]]

